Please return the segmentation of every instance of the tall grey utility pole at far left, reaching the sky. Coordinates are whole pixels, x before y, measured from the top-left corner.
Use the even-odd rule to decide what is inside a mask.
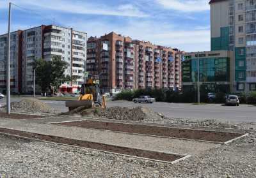
[[[9,3],[9,17],[8,17],[8,47],[7,47],[7,63],[6,63],[6,112],[11,114],[11,93],[10,93],[10,49],[11,49],[11,6]]]

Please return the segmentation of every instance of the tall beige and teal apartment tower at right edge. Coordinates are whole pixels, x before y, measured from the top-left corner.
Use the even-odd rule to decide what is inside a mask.
[[[211,50],[234,53],[232,91],[256,90],[256,0],[212,0]]]

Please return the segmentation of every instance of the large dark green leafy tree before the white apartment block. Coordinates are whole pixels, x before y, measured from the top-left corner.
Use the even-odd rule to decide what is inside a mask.
[[[40,85],[42,93],[47,92],[47,89],[54,88],[58,90],[63,82],[70,81],[72,77],[65,76],[64,72],[68,64],[61,61],[60,57],[52,58],[52,61],[37,59],[34,63],[36,84]]]

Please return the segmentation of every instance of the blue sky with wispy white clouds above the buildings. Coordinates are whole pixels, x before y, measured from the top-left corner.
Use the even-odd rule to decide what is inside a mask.
[[[8,0],[0,0],[0,34],[8,29]],[[134,40],[210,50],[207,0],[11,0],[12,31],[41,24],[73,27],[90,36],[111,31]]]

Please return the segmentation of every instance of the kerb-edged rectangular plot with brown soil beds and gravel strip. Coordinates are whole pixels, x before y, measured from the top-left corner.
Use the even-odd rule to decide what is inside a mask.
[[[246,136],[245,133],[226,130],[186,129],[108,119],[93,121],[86,117],[12,114],[6,118],[3,117],[4,114],[0,115],[2,135],[84,147],[164,163],[177,163]]]

